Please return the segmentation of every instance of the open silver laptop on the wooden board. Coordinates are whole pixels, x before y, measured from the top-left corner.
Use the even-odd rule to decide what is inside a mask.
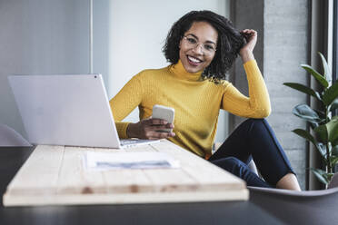
[[[8,80],[28,142],[117,149],[154,142],[120,142],[101,74],[10,75]]]

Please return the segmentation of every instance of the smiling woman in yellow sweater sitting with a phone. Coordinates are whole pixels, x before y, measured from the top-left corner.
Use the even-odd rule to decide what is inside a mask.
[[[270,100],[254,60],[257,34],[237,32],[224,16],[193,11],[179,19],[164,44],[171,64],[136,74],[110,101],[120,138],[160,139],[204,157],[250,186],[300,190],[293,169],[268,123]],[[244,64],[249,98],[225,81],[237,55]],[[151,119],[154,104],[174,108],[174,124]],[[138,106],[140,122],[120,122]],[[211,156],[219,110],[248,119]],[[165,128],[173,132],[158,132]],[[250,171],[252,157],[265,181]]]

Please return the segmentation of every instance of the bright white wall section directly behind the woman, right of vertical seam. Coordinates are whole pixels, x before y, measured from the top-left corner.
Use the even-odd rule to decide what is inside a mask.
[[[94,1],[94,50],[98,51],[94,52],[94,72],[104,73],[109,98],[114,97],[134,74],[168,65],[162,54],[166,34],[181,16],[203,9],[228,16],[229,1]],[[100,55],[108,55],[104,63]],[[138,110],[124,121],[137,122]],[[225,112],[221,112],[217,133],[216,141],[224,140],[227,134]]]

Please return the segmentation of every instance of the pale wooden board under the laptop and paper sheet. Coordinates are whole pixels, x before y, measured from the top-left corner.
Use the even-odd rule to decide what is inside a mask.
[[[179,169],[88,171],[86,152],[167,152]],[[5,206],[247,201],[245,182],[163,140],[124,150],[39,145],[9,183]]]

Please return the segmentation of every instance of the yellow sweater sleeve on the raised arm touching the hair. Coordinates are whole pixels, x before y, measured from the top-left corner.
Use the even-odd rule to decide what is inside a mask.
[[[222,108],[238,116],[267,117],[271,112],[270,98],[256,61],[246,62],[244,70],[248,80],[249,98],[229,83],[224,90]]]

